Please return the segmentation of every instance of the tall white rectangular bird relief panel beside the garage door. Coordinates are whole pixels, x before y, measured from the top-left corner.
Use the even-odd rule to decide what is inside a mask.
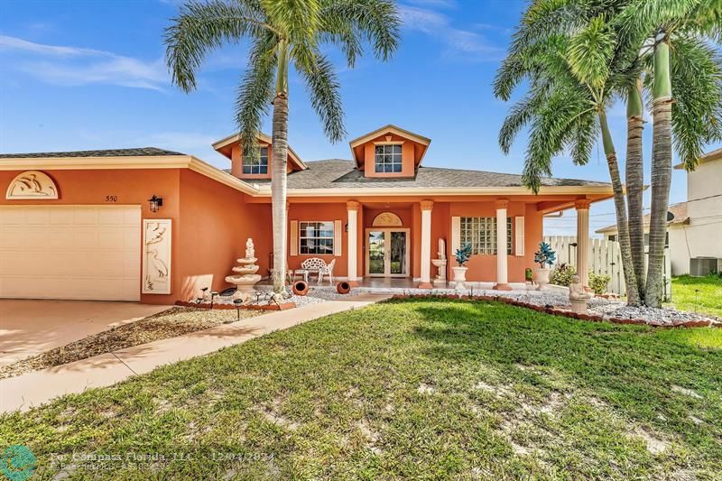
[[[143,294],[171,293],[171,219],[143,220]]]

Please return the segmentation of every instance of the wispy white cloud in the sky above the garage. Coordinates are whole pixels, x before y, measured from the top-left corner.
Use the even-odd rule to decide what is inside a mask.
[[[168,74],[162,59],[139,60],[110,51],[47,45],[0,35],[0,53],[14,55],[5,65],[55,85],[106,84],[162,90]]]

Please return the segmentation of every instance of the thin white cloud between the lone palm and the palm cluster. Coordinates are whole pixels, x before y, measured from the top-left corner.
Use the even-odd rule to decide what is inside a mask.
[[[477,32],[454,27],[446,14],[411,5],[400,5],[399,13],[404,28],[440,39],[446,45],[448,53],[467,54],[467,60],[500,60],[504,58],[504,49],[488,42]]]

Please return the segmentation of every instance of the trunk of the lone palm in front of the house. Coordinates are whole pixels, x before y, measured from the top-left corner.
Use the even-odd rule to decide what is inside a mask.
[[[288,43],[278,43],[278,74],[273,99],[273,291],[282,292],[286,280],[286,167],[288,162]]]

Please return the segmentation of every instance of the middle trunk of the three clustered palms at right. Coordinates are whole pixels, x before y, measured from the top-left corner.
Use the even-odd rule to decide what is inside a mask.
[[[644,302],[644,171],[642,160],[643,125],[642,80],[629,88],[626,107],[626,198],[629,212],[629,244],[634,278],[640,301]]]

